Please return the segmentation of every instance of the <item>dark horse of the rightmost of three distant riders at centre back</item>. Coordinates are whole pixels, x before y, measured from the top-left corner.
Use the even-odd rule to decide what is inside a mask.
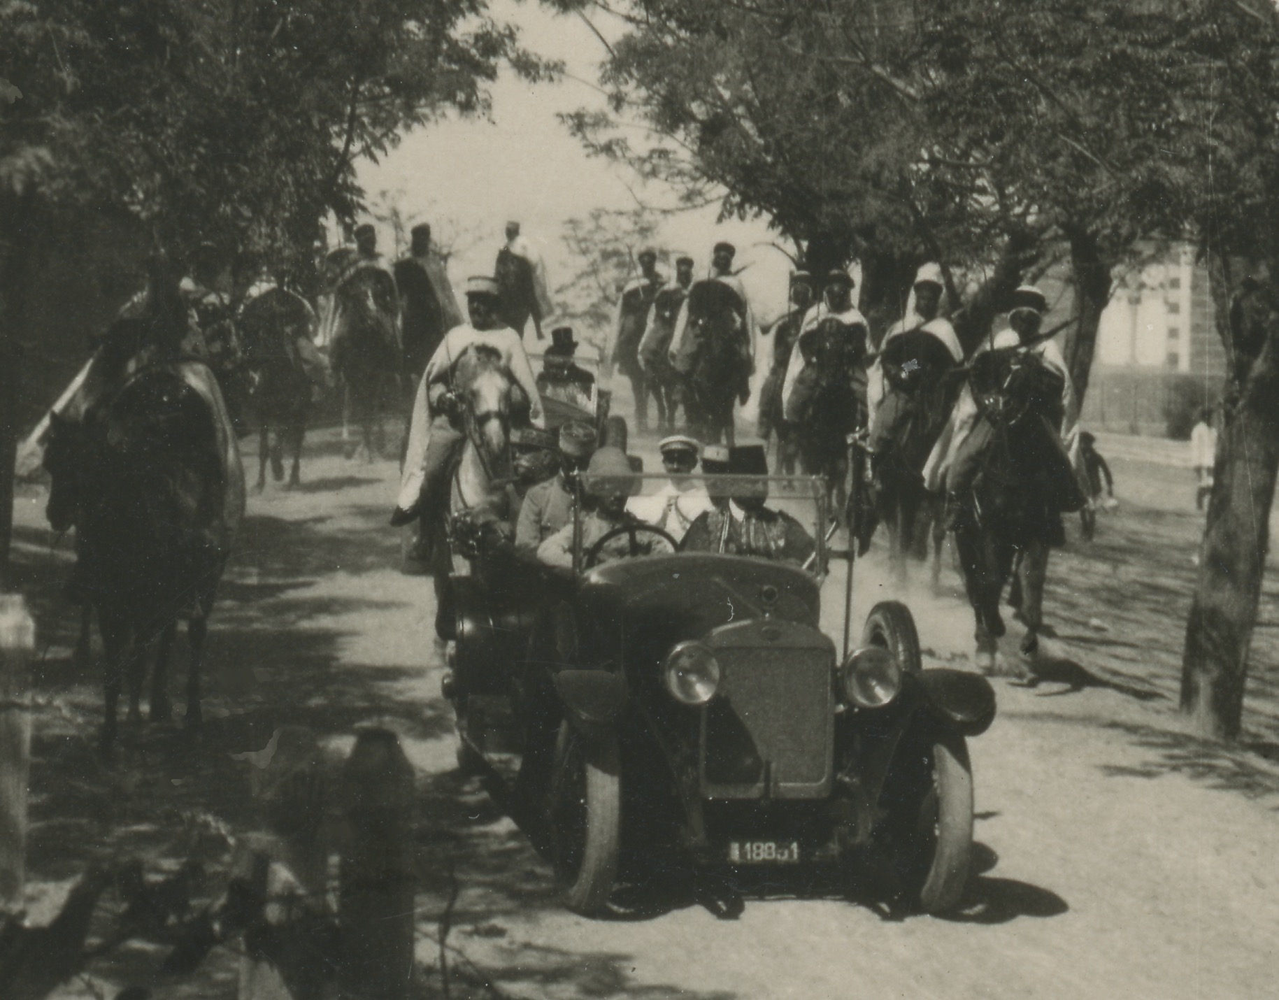
[[[751,366],[738,332],[746,322],[746,303],[724,281],[705,279],[688,290],[687,308],[683,341],[671,363],[683,379],[689,430],[702,444],[723,440],[732,446],[733,402]]]

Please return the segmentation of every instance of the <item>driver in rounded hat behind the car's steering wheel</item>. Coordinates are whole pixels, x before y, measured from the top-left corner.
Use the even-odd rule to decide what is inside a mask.
[[[636,492],[638,486],[640,481],[636,478],[634,472],[632,472],[631,463],[620,448],[606,445],[591,457],[591,464],[587,467],[585,480],[586,514],[582,517],[583,552],[591,551],[591,547],[610,531],[636,526],[648,528],[647,532],[641,531],[636,536],[636,555],[671,551],[668,542],[660,541],[652,533],[651,526],[627,513],[627,500]],[[609,563],[614,559],[624,559],[632,555],[631,545],[629,535],[619,535],[605,543],[599,561]],[[537,546],[537,561],[558,569],[573,568],[572,522]]]

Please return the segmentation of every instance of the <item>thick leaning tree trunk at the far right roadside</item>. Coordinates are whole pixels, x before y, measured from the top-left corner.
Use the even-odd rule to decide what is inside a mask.
[[[1230,312],[1223,294],[1225,281],[1215,263],[1212,277],[1218,316],[1225,317]],[[1224,740],[1239,735],[1279,469],[1279,315],[1269,304],[1269,289],[1251,294],[1261,299],[1253,303],[1252,318],[1244,309],[1244,329],[1232,324],[1223,336],[1227,350],[1241,357],[1236,349],[1241,338],[1251,336],[1255,343],[1264,326],[1264,347],[1251,364],[1236,367],[1227,391],[1225,426],[1182,657],[1182,711],[1201,735]]]

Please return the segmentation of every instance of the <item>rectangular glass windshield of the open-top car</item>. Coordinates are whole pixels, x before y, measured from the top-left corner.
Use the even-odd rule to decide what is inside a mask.
[[[826,573],[831,515],[810,476],[634,473],[581,477],[579,570],[615,559],[719,552]],[[673,545],[674,543],[674,545]]]

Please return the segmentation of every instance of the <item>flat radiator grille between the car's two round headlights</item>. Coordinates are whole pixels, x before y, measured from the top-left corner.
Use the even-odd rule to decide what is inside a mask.
[[[720,693],[702,715],[709,798],[813,798],[831,783],[834,693],[820,648],[720,648]]]

